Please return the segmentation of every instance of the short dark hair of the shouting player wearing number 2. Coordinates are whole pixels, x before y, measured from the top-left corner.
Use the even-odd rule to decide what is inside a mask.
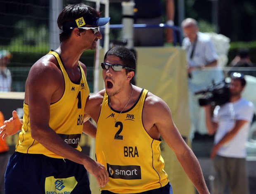
[[[104,56],[104,61],[109,55],[115,55],[116,57],[119,57],[121,61],[123,62],[123,65],[126,67],[130,67],[132,69],[136,69],[136,59],[132,51],[130,51],[126,47],[113,47],[109,51],[106,52]],[[129,70],[126,69],[126,73],[128,73]]]

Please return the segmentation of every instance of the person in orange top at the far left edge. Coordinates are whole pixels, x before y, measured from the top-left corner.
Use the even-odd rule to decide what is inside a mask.
[[[0,126],[4,125],[4,121],[5,121],[4,115],[0,111]],[[9,147],[6,144],[5,140],[2,140],[2,138],[0,138],[0,164],[1,164],[1,168],[0,168],[0,194],[5,193],[4,177],[5,177],[6,166],[7,166],[8,160],[9,160],[8,151],[9,151]]]

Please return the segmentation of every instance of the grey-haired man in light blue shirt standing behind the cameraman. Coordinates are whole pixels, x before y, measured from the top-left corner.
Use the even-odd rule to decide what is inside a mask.
[[[191,139],[194,132],[206,134],[204,109],[199,106],[200,96],[194,92],[204,90],[213,82],[220,83],[224,80],[224,74],[217,67],[218,55],[208,35],[199,32],[197,21],[187,18],[181,23],[185,38],[183,46],[187,52],[187,73],[189,84],[190,117],[192,128]]]

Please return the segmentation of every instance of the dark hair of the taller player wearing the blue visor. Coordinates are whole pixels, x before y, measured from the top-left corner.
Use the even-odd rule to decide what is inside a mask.
[[[57,19],[58,27],[59,29],[63,30],[63,24],[78,19],[80,17],[86,17],[89,14],[94,17],[100,17],[99,13],[94,8],[83,3],[67,5],[59,14],[59,17]],[[83,29],[79,30],[84,31]],[[60,42],[62,43],[63,41],[69,39],[71,32],[72,29],[62,31],[62,33],[59,34]]]

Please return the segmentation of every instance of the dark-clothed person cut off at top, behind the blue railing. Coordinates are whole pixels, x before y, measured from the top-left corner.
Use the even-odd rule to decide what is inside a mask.
[[[156,25],[163,23],[162,3],[160,0],[135,0],[135,24]],[[174,0],[166,0],[166,24],[173,26]],[[172,29],[166,29],[166,40],[173,41]],[[135,28],[134,46],[163,46],[164,28]]]

